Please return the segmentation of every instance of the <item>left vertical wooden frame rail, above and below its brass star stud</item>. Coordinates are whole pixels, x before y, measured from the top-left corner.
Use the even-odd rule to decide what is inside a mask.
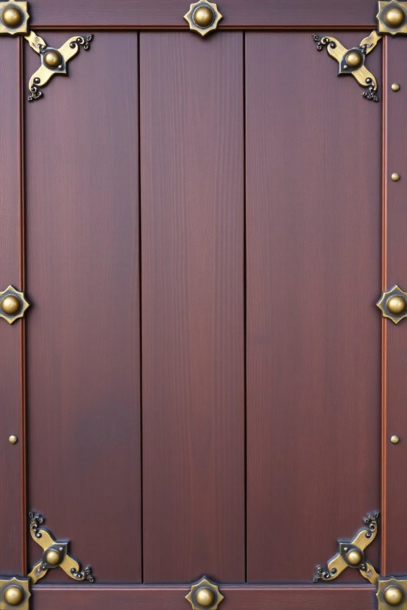
[[[18,41],[2,37],[0,45],[0,291],[20,286],[20,133]],[[28,315],[28,314],[27,314]],[[23,445],[21,444],[21,321],[9,325],[0,319],[0,464],[1,500],[0,573],[21,573],[24,525]],[[20,443],[10,445],[10,434]]]

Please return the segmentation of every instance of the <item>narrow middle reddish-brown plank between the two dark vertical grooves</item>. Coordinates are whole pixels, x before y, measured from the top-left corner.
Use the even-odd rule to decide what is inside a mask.
[[[145,582],[244,580],[243,35],[140,35]]]

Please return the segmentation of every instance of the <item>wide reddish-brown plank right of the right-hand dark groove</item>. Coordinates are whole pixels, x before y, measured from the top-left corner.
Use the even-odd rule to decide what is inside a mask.
[[[246,41],[251,582],[310,581],[380,508],[381,107],[310,38]]]

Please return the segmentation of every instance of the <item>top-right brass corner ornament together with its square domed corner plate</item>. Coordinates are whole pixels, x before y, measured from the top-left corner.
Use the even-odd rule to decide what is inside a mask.
[[[378,101],[377,81],[372,73],[365,67],[365,59],[383,35],[407,34],[407,2],[397,0],[379,1],[377,32],[373,30],[369,36],[364,38],[358,46],[346,49],[340,42],[332,36],[314,34],[314,41],[317,43],[318,51],[322,51],[325,46],[328,55],[336,59],[339,63],[340,74],[352,74],[361,87],[366,87],[363,95],[366,99]]]

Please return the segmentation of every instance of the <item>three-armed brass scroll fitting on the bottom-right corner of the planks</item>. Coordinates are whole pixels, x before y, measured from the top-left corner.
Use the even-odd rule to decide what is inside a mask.
[[[358,529],[351,540],[338,540],[338,551],[336,555],[326,564],[315,567],[314,583],[319,580],[334,580],[347,567],[356,568],[364,578],[372,584],[376,584],[380,575],[376,572],[373,565],[367,561],[364,550],[373,542],[377,534],[378,512],[372,512],[363,518],[364,527]]]

